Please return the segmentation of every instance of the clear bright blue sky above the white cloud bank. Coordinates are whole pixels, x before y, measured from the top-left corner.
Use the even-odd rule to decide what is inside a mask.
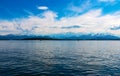
[[[88,1],[90,5],[87,5],[82,12],[77,12],[77,14],[83,14],[92,9],[102,9],[103,15],[120,10],[119,0],[115,2],[100,2],[98,0],[1,0],[0,19],[22,18],[32,14],[38,15],[44,12],[37,9],[38,6],[47,6],[49,10],[56,12],[59,18],[71,16],[76,12],[69,10],[70,5],[82,8],[82,5]]]

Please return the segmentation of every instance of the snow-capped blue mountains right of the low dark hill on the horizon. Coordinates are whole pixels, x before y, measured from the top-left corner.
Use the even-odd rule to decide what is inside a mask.
[[[53,34],[52,38],[55,39],[68,39],[68,40],[120,40],[120,37],[111,34],[81,34],[81,33],[64,33]]]

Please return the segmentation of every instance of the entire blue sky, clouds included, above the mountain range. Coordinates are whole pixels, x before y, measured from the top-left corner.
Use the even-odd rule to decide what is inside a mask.
[[[120,0],[0,0],[0,35],[120,36]]]

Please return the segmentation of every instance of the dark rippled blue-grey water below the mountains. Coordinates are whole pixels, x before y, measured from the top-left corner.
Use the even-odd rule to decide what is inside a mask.
[[[0,76],[120,76],[120,41],[0,41]]]

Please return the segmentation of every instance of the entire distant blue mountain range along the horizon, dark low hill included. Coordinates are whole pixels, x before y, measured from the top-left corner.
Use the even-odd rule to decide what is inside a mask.
[[[0,40],[120,40],[111,34],[60,33],[50,35],[0,35]]]

